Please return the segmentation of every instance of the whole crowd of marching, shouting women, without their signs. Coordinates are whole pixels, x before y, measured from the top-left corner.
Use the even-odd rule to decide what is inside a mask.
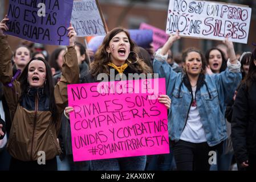
[[[124,28],[105,36],[89,63],[87,49],[75,42],[48,55],[40,44],[11,51],[0,23],[0,170],[239,170],[256,169],[256,49],[237,57],[233,43],[205,55],[189,47],[173,56],[170,35],[156,52],[137,47]],[[166,80],[159,102],[168,109],[169,154],[74,162],[67,84],[99,82],[111,69],[122,80],[129,73],[158,73]],[[111,81],[111,80],[110,80]],[[46,152],[46,164],[37,162]],[[209,163],[216,151],[217,164]]]

